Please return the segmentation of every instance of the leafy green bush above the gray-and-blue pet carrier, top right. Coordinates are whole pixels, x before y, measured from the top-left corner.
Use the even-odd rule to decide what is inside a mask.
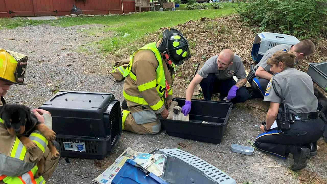
[[[309,38],[326,34],[327,0],[249,0],[240,3],[243,20],[260,30]]]

